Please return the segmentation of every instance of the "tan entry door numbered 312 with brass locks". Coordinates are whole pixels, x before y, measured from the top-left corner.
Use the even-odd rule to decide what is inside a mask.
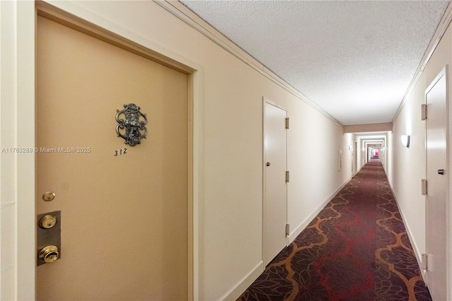
[[[186,300],[187,89],[184,73],[37,18],[36,210],[61,211],[38,300]],[[130,103],[148,119],[133,147],[115,130]]]

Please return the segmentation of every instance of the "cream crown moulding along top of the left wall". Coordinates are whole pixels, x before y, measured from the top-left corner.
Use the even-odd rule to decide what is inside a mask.
[[[235,45],[230,40],[227,40],[227,38],[224,37],[221,33],[219,33],[218,30],[215,30],[215,28],[213,28],[204,20],[199,18],[195,13],[190,11],[189,8],[186,8],[184,4],[180,3],[179,1],[166,1],[166,0],[156,0],[155,3],[162,6],[162,8],[165,8],[169,13],[172,13],[172,15],[179,18],[179,20],[182,20],[184,23],[191,26],[191,28],[194,28],[199,33],[206,36],[212,42],[215,42],[215,44],[222,47],[222,49],[225,49],[234,57],[237,57],[237,59],[240,59],[248,66],[261,73],[270,81],[273,81],[273,83],[279,85],[287,92],[299,98],[299,100],[302,100],[307,105],[313,107],[315,110],[323,114],[323,116],[335,122],[335,124],[343,126],[343,124],[338,122],[338,120],[331,116],[331,114],[328,114],[328,112],[319,107],[319,105],[316,105],[316,103],[307,98],[307,96],[303,95],[297,89],[293,88],[291,85],[286,83],[282,78],[280,78],[278,75],[267,69],[266,66],[263,66],[263,64],[259,63],[256,59],[254,59],[254,57],[251,57],[251,55],[244,52],[243,49]]]

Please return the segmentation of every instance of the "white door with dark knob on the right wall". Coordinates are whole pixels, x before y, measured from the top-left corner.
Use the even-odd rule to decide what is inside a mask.
[[[425,92],[427,102],[427,285],[433,300],[446,300],[446,73]],[[442,172],[444,171],[444,172]]]

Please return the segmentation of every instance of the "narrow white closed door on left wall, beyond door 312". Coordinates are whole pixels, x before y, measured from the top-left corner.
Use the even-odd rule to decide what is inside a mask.
[[[287,137],[286,111],[265,102],[264,108],[264,264],[286,246],[287,223]]]

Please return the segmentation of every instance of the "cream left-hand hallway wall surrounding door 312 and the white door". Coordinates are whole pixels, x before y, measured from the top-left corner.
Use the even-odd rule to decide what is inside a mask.
[[[352,158],[348,145],[352,143],[352,136],[344,135],[342,126],[308,105],[293,90],[263,76],[261,71],[251,68],[154,2],[49,2],[157,52],[194,61],[202,69],[203,191],[200,194],[203,211],[200,212],[203,244],[199,250],[202,262],[198,297],[203,300],[237,298],[263,270],[262,97],[285,107],[291,119],[288,218],[294,233],[301,230],[323,203],[350,179]],[[30,14],[16,17],[33,23]],[[32,33],[27,37],[32,40]],[[32,54],[33,47],[29,47],[28,52]],[[257,64],[251,58],[249,61]],[[261,69],[265,71],[263,66]],[[34,76],[32,69],[28,76]],[[33,97],[26,102],[31,108],[33,103]],[[1,105],[6,105],[3,97]],[[16,136],[19,134],[10,135]],[[340,171],[339,151],[343,154]],[[31,175],[32,163],[28,164],[28,170]],[[13,170],[6,170],[6,175],[2,174],[2,185],[14,177]],[[18,187],[19,184],[14,185]],[[20,210],[28,215],[32,212],[30,208]],[[4,216],[2,208],[1,217]],[[16,240],[14,233],[6,237]],[[3,250],[2,240],[2,254]],[[2,279],[18,271],[14,267],[4,269],[3,262]],[[20,279],[18,283],[17,291],[32,293],[20,288]]]

